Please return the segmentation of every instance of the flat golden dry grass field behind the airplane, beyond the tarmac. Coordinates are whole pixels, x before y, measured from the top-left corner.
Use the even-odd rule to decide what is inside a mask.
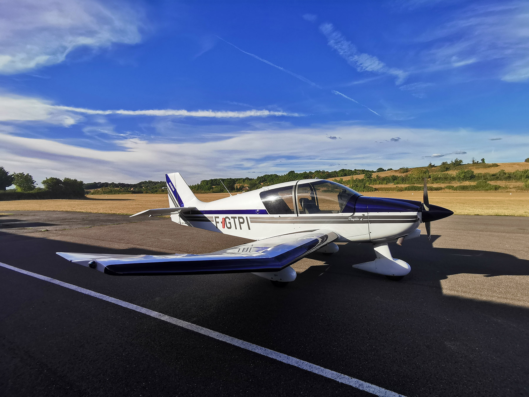
[[[227,197],[227,193],[197,194],[202,201]],[[422,192],[369,192],[364,195],[407,198],[422,201]],[[529,216],[529,192],[430,192],[430,203],[441,205],[459,215]],[[85,200],[0,201],[0,211],[79,211],[110,214],[134,214],[150,208],[168,206],[164,194],[93,195]]]

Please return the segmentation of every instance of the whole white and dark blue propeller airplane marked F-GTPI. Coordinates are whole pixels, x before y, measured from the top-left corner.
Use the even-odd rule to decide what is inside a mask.
[[[362,196],[325,179],[302,179],[262,187],[205,203],[191,192],[179,173],[166,175],[169,207],[134,214],[170,215],[180,225],[252,240],[211,254],[114,255],[57,252],[73,263],[110,275],[178,275],[253,273],[285,286],[296,278],[290,266],[318,251],[337,252],[336,242],[371,243],[376,259],[353,265],[367,272],[401,279],[411,268],[391,256],[388,243],[413,239],[425,223],[453,214],[428,202]]]

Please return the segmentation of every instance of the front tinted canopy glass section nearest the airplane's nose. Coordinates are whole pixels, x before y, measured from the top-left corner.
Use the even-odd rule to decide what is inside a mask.
[[[298,212],[300,214],[354,212],[354,202],[359,196],[361,194],[351,188],[332,181],[300,184],[297,187]]]

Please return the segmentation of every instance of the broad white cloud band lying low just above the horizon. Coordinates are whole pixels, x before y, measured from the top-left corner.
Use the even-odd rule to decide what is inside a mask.
[[[497,134],[497,132],[496,132]],[[0,158],[10,172],[45,177],[74,177],[85,182],[161,180],[167,172],[181,172],[188,183],[218,176],[255,176],[286,173],[291,169],[398,168],[425,165],[421,154],[454,153],[455,145],[470,157],[489,161],[518,161],[529,148],[524,136],[491,144],[477,136],[488,132],[328,125],[313,128],[239,131],[214,141],[175,142],[120,139],[113,150],[67,145],[48,139],[16,136],[13,127],[0,129]],[[329,137],[340,137],[337,140]],[[380,145],[377,140],[402,138],[406,145]],[[505,136],[507,137],[507,136]],[[508,142],[507,142],[508,141]],[[295,149],[293,149],[295,148]],[[242,150],[243,149],[243,150]],[[494,150],[494,151],[493,151]]]

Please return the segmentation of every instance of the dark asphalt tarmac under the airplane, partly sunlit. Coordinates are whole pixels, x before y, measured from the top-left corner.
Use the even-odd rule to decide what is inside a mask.
[[[47,230],[47,231],[42,231]],[[368,244],[251,274],[115,277],[57,251],[198,254],[249,240],[167,218],[0,214],[0,262],[164,313],[407,396],[529,395],[529,218],[432,223],[398,247],[402,281],[353,269]],[[0,267],[0,395],[370,395]]]

